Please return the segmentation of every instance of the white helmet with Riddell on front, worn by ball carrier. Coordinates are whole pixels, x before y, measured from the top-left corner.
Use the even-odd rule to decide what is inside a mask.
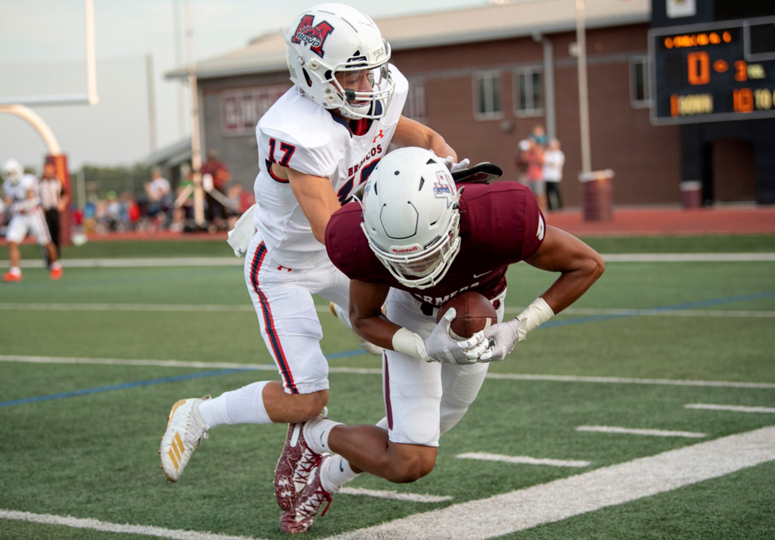
[[[380,161],[363,188],[361,229],[399,283],[439,283],[460,251],[460,191],[444,160],[400,148]]]

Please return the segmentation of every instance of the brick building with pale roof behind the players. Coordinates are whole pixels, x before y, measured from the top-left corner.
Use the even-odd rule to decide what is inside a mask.
[[[649,120],[651,2],[586,5],[592,169],[615,170],[617,205],[678,204],[681,181],[700,180],[701,173],[682,162],[682,127]],[[565,203],[580,205],[574,0],[378,19],[377,25],[393,48],[391,62],[410,83],[405,115],[440,132],[459,156],[498,163],[514,179],[518,141],[536,124],[546,126],[567,157]],[[254,126],[291,85],[284,41],[279,33],[260,36],[202,61],[197,77],[203,147],[219,150],[233,177],[250,186],[257,173]],[[684,126],[684,139],[687,132]],[[692,143],[684,140],[684,149]],[[720,176],[711,178],[719,185],[708,191],[710,200],[756,200],[755,172],[739,181],[724,169],[746,152],[745,145],[721,147]]]

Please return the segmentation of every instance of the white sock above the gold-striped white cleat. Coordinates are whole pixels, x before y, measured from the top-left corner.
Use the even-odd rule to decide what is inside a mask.
[[[263,405],[263,387],[269,383],[262,380],[202,401],[199,414],[210,428],[222,424],[271,424],[267,408]]]

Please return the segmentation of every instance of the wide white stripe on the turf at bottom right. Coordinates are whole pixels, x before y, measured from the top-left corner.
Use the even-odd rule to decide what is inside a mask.
[[[676,490],[775,459],[775,427],[730,435],[329,540],[492,538]]]

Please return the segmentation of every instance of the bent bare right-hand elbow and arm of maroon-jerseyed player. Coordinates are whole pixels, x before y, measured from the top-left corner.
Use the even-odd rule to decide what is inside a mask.
[[[556,227],[546,227],[543,244],[526,263],[560,277],[541,297],[555,315],[577,301],[605,270],[603,258],[580,239]]]

